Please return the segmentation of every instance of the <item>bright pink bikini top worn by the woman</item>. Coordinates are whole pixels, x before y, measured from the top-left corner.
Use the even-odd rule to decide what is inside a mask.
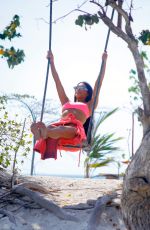
[[[65,109],[79,109],[85,114],[86,118],[90,116],[88,105],[83,102],[67,102],[62,107],[62,110]]]

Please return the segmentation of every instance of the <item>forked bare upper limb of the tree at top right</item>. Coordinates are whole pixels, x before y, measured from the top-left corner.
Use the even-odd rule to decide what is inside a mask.
[[[93,3],[95,3],[93,1]],[[116,34],[117,36],[121,37],[127,44],[128,47],[134,57],[135,64],[137,67],[138,78],[139,78],[139,86],[141,89],[144,112],[148,116],[150,115],[150,91],[147,85],[146,77],[144,74],[144,62],[138,50],[138,41],[135,39],[134,35],[132,34],[130,20],[127,13],[123,9],[119,9],[119,6],[113,0],[109,0],[111,7],[115,8],[118,13],[122,14],[125,19],[125,31],[126,33],[119,27],[115,26],[114,23],[110,20],[109,17],[104,15],[103,12],[98,11],[101,20],[110,28],[110,30]]]

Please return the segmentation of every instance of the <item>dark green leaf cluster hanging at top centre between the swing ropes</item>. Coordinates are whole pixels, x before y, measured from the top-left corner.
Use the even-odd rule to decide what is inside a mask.
[[[79,15],[78,18],[75,21],[75,24],[78,26],[85,26],[85,29],[87,30],[87,25],[91,26],[94,23],[98,24],[99,18],[97,14],[91,15],[91,14],[84,14],[84,15]]]

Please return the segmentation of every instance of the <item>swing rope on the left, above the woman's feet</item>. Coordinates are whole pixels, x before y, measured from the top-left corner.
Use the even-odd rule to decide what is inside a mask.
[[[52,43],[52,0],[50,0],[50,13],[49,13],[49,50],[51,50],[51,43]],[[43,120],[43,114],[44,114],[44,105],[45,105],[45,98],[46,98],[46,91],[47,91],[47,85],[48,85],[48,75],[49,75],[49,67],[50,67],[50,60],[48,58],[47,61],[47,71],[46,71],[46,80],[45,80],[45,88],[44,88],[44,95],[43,95],[43,102],[42,102],[42,110],[41,110],[41,119]]]

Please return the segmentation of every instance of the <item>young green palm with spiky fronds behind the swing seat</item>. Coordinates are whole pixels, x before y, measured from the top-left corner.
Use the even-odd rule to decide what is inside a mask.
[[[95,122],[92,130],[91,150],[84,162],[88,174],[91,174],[92,169],[107,166],[110,162],[114,161],[113,157],[108,157],[108,154],[119,150],[119,147],[115,144],[122,139],[121,137],[115,138],[114,133],[101,134],[98,132],[101,124],[117,110],[114,109],[107,113],[100,113],[99,119]]]

